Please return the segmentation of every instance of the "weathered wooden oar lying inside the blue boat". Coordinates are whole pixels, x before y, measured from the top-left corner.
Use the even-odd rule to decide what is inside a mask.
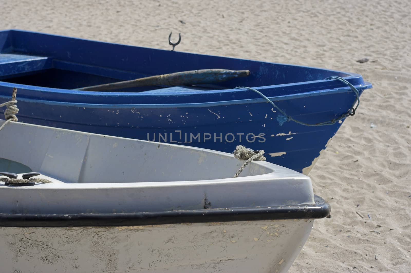
[[[238,77],[245,77],[248,75],[250,75],[250,71],[248,70],[200,69],[144,77],[124,82],[113,82],[109,84],[81,87],[75,90],[108,91],[137,86],[212,84],[215,82],[232,80]]]

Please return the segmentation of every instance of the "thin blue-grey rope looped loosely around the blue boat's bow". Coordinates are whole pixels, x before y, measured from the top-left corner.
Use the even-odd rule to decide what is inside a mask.
[[[305,123],[302,121],[298,121],[294,118],[292,118],[291,116],[288,116],[282,109],[280,109],[277,105],[274,104],[274,102],[272,102],[272,100],[270,100],[269,98],[267,98],[263,93],[261,93],[260,91],[251,88],[251,87],[247,87],[247,86],[238,86],[236,87],[236,89],[248,89],[251,91],[256,92],[257,94],[259,94],[261,97],[265,98],[268,102],[271,103],[272,106],[275,107],[275,109],[277,109],[281,114],[279,114],[277,116],[277,121],[278,124],[280,126],[282,126],[285,122],[287,121],[294,121],[298,124],[302,124],[302,125],[306,125],[306,126],[323,126],[323,125],[332,125],[334,123],[336,123],[337,121],[340,121],[344,118],[346,118],[347,116],[354,116],[354,114],[356,113],[356,110],[358,108],[358,105],[360,105],[360,93],[358,92],[358,90],[356,89],[355,86],[353,86],[350,82],[347,82],[346,80],[344,80],[342,77],[338,77],[338,76],[331,76],[331,77],[327,77],[326,80],[339,80],[340,82],[343,82],[344,84],[348,85],[352,91],[354,91],[354,93],[356,94],[357,98],[356,100],[354,100],[353,105],[351,106],[351,109],[342,114],[341,116],[339,116],[338,118],[333,118],[330,121],[324,121],[324,122],[319,122],[319,123],[314,123],[314,124],[310,124],[310,123]]]

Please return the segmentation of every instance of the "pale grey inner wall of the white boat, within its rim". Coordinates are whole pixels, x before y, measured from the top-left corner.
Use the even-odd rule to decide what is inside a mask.
[[[40,172],[65,183],[218,180],[233,177],[242,164],[229,154],[200,148],[30,124],[7,127],[0,171]],[[272,166],[252,162],[241,176],[268,174]]]

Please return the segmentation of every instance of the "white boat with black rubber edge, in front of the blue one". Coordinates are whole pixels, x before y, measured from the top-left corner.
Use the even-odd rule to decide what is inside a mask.
[[[330,212],[309,177],[232,178],[224,152],[16,122],[0,143],[0,171],[41,173],[0,179],[2,272],[286,272]]]

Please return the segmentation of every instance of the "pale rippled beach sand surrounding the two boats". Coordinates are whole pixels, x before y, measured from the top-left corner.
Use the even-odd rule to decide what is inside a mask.
[[[410,10],[409,1],[0,0],[0,29],[162,49],[173,31],[178,51],[360,73],[374,88],[309,174],[332,217],[315,221],[289,272],[411,272]]]

